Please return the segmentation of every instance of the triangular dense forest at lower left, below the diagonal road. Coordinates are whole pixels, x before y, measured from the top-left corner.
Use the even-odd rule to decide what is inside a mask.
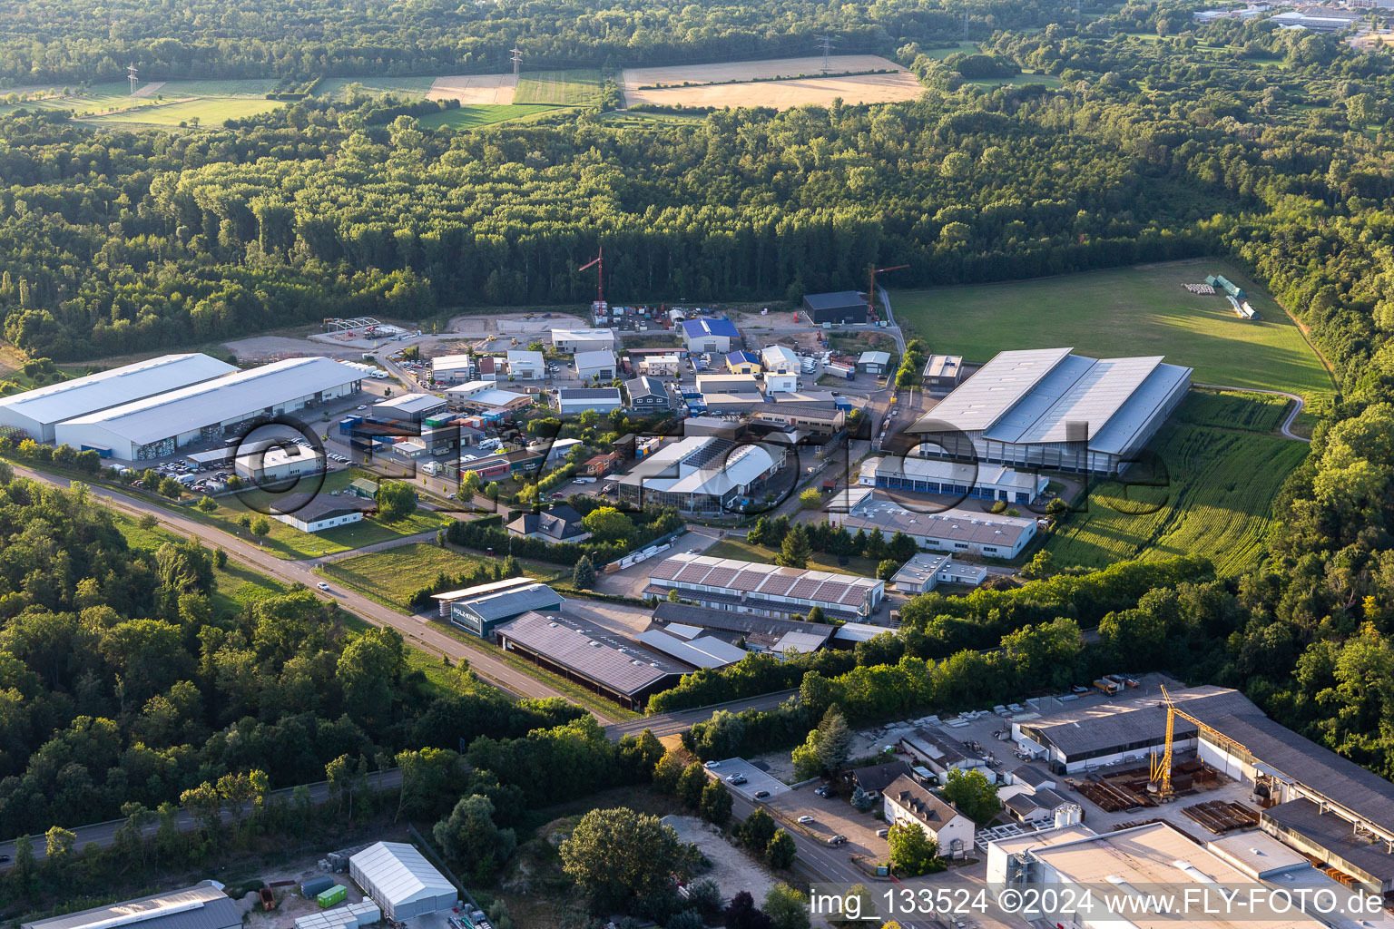
[[[584,715],[512,703],[467,671],[446,694],[393,631],[350,632],[308,591],[217,617],[197,542],[131,549],[81,490],[0,468],[0,833],[156,808],[227,773],[325,779],[347,755],[519,737]]]

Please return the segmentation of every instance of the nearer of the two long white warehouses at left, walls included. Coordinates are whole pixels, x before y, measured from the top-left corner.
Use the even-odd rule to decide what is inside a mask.
[[[289,358],[59,423],[57,442],[107,446],[127,461],[160,458],[243,423],[344,397],[362,372],[328,358]]]

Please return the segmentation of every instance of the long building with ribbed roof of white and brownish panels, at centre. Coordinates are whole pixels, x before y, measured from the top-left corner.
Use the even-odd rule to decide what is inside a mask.
[[[775,564],[675,554],[648,571],[644,593],[677,596],[700,606],[789,617],[820,607],[828,618],[870,616],[885,596],[885,582],[853,574],[782,568]]]

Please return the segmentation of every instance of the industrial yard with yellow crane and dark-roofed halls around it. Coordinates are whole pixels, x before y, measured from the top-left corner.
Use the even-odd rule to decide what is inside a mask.
[[[976,769],[998,783],[1015,822],[981,829],[983,850],[1050,830],[1078,806],[1098,834],[1160,822],[1204,845],[1246,833],[1259,841],[1262,830],[1337,883],[1394,901],[1394,784],[1230,688],[1108,676],[875,738],[899,740],[931,772]]]

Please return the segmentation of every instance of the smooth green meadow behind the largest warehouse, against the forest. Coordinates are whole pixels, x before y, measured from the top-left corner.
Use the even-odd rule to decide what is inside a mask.
[[[1245,322],[1224,297],[1182,284],[1224,274],[1262,319]],[[1196,383],[1330,396],[1331,380],[1282,308],[1220,260],[1143,265],[999,284],[892,295],[899,323],[931,351],[986,362],[1011,348],[1071,345],[1082,355],[1165,355],[1195,368]]]

